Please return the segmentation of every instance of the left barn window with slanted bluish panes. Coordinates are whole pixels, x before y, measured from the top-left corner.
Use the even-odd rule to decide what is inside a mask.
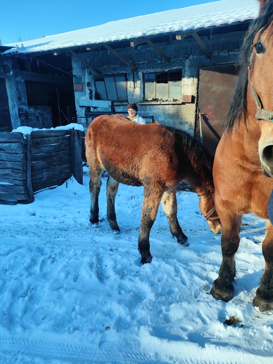
[[[98,100],[128,101],[126,75],[96,76],[94,84]]]

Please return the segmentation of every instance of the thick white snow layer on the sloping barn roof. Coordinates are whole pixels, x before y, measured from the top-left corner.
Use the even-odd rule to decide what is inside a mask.
[[[5,51],[4,54],[53,51],[60,48],[80,47],[142,36],[221,26],[254,19],[258,15],[258,9],[257,0],[216,1],[49,35],[24,41],[23,46],[16,47],[15,43],[8,44],[8,46],[12,45],[15,48]]]

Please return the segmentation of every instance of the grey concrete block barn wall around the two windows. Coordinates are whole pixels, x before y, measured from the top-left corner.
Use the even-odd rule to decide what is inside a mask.
[[[173,40],[171,44],[156,44],[171,59],[170,62],[162,59],[153,48],[145,43],[137,47],[115,49],[128,61],[136,64],[138,71],[135,72],[132,72],[127,64],[103,47],[99,52],[89,52],[81,56],[85,57],[89,63],[98,68],[104,75],[127,74],[128,102],[138,103],[139,115],[154,115],[155,119],[160,123],[181,128],[193,135],[197,111],[199,67],[234,64],[244,35],[245,31],[241,31],[213,35],[212,37],[201,37],[203,43],[212,53],[210,59],[207,58],[193,37],[184,40]],[[93,77],[96,72],[76,57],[72,57],[72,67],[73,74],[81,76],[83,80],[83,92],[75,92],[77,116],[83,117],[85,110],[83,107],[79,107],[79,99],[89,99],[90,88],[92,89],[92,98],[94,98]],[[141,103],[143,100],[143,74],[145,72],[176,69],[182,70],[181,93],[182,95],[193,95],[191,103]],[[86,86],[87,82],[90,82],[91,85],[89,89]],[[126,112],[126,106],[127,102],[115,102],[117,112]]]

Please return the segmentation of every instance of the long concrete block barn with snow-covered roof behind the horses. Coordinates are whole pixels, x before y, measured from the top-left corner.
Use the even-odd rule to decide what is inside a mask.
[[[0,45],[0,131],[89,123],[138,104],[210,151],[237,79],[257,0],[222,0]]]

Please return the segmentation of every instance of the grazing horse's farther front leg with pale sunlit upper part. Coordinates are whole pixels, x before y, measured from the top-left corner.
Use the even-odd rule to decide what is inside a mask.
[[[189,243],[187,242],[188,238],[182,232],[181,226],[179,225],[177,219],[176,188],[172,191],[164,192],[161,203],[169,221],[171,234],[177,237],[177,241],[179,244],[189,246]]]

